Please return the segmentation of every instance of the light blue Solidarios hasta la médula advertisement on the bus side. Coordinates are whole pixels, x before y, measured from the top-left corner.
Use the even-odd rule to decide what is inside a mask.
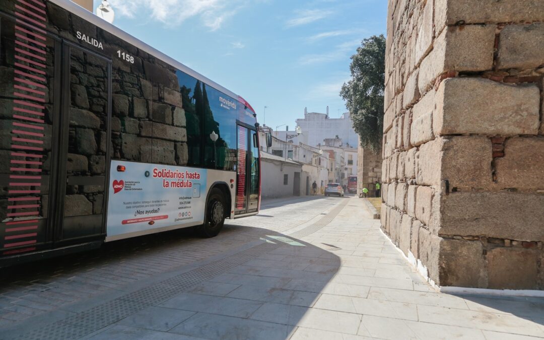
[[[206,169],[112,160],[107,238],[201,224]]]

